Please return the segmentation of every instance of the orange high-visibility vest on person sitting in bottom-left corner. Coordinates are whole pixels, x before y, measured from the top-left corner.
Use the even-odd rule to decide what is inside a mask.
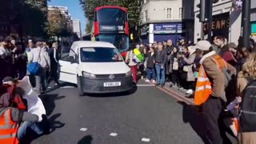
[[[0,116],[0,143],[18,144],[18,122],[12,121],[11,109],[5,110]]]

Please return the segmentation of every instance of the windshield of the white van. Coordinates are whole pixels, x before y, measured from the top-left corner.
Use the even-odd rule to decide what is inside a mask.
[[[80,49],[81,62],[122,62],[122,57],[114,48],[84,47]]]

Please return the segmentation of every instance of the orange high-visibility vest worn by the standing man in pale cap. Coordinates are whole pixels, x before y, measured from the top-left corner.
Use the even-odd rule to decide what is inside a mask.
[[[222,67],[227,67],[226,62],[219,56],[215,55],[211,58],[220,70]],[[196,84],[196,90],[194,93],[194,104],[196,106],[202,105],[210,97],[212,93],[212,83],[207,77],[206,71],[201,65],[198,72],[198,81]]]

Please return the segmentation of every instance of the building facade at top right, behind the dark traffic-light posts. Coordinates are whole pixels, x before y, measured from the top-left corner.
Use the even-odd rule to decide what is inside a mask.
[[[212,22],[212,37],[222,35],[229,42],[238,44],[238,38],[241,35],[242,27],[242,10],[240,5],[242,0],[219,0],[213,5],[213,22]],[[200,0],[194,1],[194,41],[197,38],[208,37],[208,23],[199,22],[198,14],[200,12],[198,4]],[[251,15],[250,21],[252,26],[255,26],[256,33],[256,1],[251,0]],[[253,29],[251,29],[253,30]]]

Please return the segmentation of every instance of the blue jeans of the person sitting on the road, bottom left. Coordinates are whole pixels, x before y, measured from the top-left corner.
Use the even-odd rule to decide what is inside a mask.
[[[40,135],[43,133],[43,126],[41,122],[22,122],[21,126],[18,127],[17,138],[20,140],[26,135],[26,130],[33,130],[36,134]]]

